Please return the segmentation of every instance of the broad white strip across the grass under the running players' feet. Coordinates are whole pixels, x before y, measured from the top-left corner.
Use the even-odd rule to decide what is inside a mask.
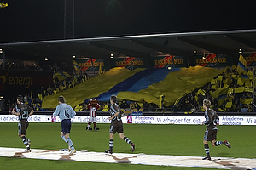
[[[0,156],[23,157],[46,160],[92,161],[105,163],[131,163],[156,166],[204,167],[219,169],[253,169],[256,170],[256,159],[213,157],[212,161],[202,160],[200,156],[166,156],[146,154],[113,153],[77,151],[69,156],[67,151],[38,150],[24,152],[25,149],[0,147]]]

